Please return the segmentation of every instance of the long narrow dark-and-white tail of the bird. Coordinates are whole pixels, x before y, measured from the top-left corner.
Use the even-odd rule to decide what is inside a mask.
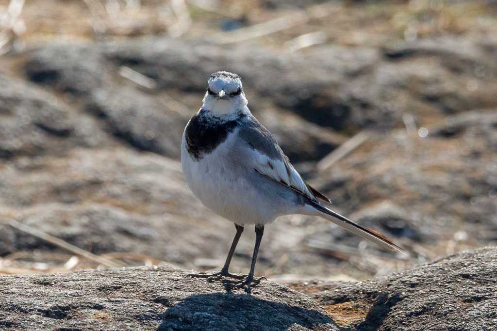
[[[360,226],[357,223],[352,222],[345,216],[340,215],[337,212],[334,212],[333,210],[323,206],[322,204],[318,202],[314,202],[312,200],[308,201],[308,204],[314,207],[316,210],[319,211],[319,215],[325,217],[326,219],[330,220],[331,222],[344,227],[348,231],[355,233],[359,236],[361,236],[364,239],[367,239],[375,244],[380,245],[381,247],[390,249],[390,250],[396,250],[401,252],[402,254],[407,256],[407,253],[394,244],[390,239],[385,238],[379,233],[376,233],[373,230],[367,229],[365,227]]]

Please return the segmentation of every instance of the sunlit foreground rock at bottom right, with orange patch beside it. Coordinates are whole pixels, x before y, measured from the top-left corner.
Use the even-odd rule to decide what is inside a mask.
[[[494,330],[497,250],[486,248],[346,285],[295,284],[341,327],[359,330]],[[314,292],[314,293],[313,293]]]

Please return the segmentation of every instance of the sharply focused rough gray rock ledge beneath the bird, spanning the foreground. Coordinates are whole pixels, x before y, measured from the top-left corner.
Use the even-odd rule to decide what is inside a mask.
[[[361,282],[262,281],[248,296],[169,266],[0,277],[12,330],[494,330],[497,249]]]

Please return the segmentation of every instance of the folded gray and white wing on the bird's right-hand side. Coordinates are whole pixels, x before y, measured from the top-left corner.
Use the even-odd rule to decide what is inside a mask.
[[[312,201],[319,199],[331,202],[325,195],[308,185],[292,166],[274,136],[252,115],[244,120],[238,132],[240,148],[249,149],[251,166],[254,171],[285,185]]]

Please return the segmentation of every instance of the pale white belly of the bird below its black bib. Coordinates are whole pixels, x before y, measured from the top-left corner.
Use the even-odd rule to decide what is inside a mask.
[[[227,158],[233,139],[226,139],[210,154],[193,159],[181,142],[181,165],[195,197],[212,211],[237,224],[265,224],[277,212],[258,192],[242,166]]]

